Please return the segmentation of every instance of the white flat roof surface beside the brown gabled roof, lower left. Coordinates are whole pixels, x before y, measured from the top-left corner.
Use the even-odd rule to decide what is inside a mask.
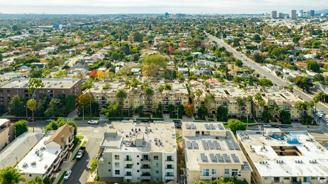
[[[42,146],[44,143],[50,138],[51,135],[48,137],[44,137],[41,141],[35,145],[35,147],[18,163],[18,168],[23,173],[36,173],[36,174],[44,174],[51,164],[56,160],[58,155],[62,152],[61,149],[45,149],[42,150],[42,156],[38,156],[35,151]],[[35,165],[31,165],[31,163],[35,161]],[[23,167],[23,164],[27,163],[27,167]]]

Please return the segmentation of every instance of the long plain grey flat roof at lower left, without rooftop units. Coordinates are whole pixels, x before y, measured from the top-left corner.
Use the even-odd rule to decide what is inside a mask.
[[[0,152],[0,167],[15,166],[43,136],[43,133],[20,135]]]

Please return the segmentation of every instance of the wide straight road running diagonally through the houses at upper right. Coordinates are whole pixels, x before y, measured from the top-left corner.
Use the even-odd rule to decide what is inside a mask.
[[[256,73],[260,74],[261,76],[266,76],[267,79],[270,79],[273,83],[276,83],[278,86],[288,86],[290,85],[287,81],[284,81],[280,77],[276,75],[274,72],[268,72],[266,69],[261,67],[259,64],[255,63],[253,60],[249,59],[245,54],[241,54],[234,50],[230,45],[226,44],[223,40],[218,39],[212,35],[208,36],[210,40],[215,41],[218,46],[224,46],[226,49],[234,54],[237,59],[242,60],[242,62],[246,66],[250,66],[250,68],[254,69]],[[294,94],[299,95],[301,99],[305,101],[312,100],[312,96],[306,94],[298,87],[294,86]],[[317,103],[317,110],[322,110],[324,112],[328,112],[328,107],[323,104],[322,102]]]

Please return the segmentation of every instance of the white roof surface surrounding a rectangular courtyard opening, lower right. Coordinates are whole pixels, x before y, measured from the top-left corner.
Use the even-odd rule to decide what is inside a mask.
[[[246,132],[249,139],[245,139]],[[253,131],[253,133],[252,131],[240,131],[239,133],[244,133],[238,135],[242,137],[241,144],[262,177],[328,176],[328,151],[318,142],[309,141],[310,139],[314,140],[314,137],[306,131],[291,132],[300,144],[289,144],[285,140],[274,138],[266,139],[265,136],[262,136],[263,131]],[[271,146],[296,147],[301,155],[279,156]],[[251,148],[254,152],[251,152]],[[283,163],[277,163],[277,161],[283,161]]]

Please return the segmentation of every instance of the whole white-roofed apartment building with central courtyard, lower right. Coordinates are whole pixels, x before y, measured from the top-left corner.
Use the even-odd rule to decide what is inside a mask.
[[[326,183],[328,151],[307,131],[237,131],[257,184]]]

